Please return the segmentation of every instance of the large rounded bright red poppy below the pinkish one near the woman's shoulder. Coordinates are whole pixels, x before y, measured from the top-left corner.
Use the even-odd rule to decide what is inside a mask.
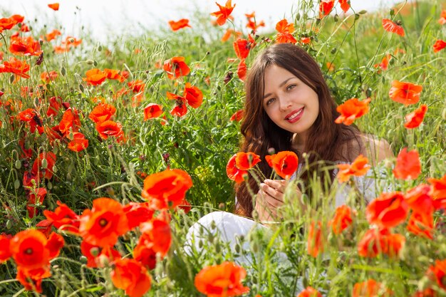
[[[380,228],[398,226],[408,217],[408,212],[409,205],[401,192],[383,193],[365,209],[368,222]]]

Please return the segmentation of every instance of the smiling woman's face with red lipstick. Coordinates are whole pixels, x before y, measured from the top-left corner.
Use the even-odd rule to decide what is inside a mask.
[[[293,73],[276,65],[266,68],[263,106],[279,127],[306,139],[319,114],[318,94]]]

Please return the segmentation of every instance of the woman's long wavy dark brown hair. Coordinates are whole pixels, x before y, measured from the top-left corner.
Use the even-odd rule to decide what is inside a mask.
[[[291,150],[296,152],[299,160],[303,160],[303,152],[292,147],[293,133],[277,126],[264,110],[264,73],[266,68],[271,65],[279,66],[293,73],[318,94],[319,114],[307,133],[308,139],[304,148],[307,154],[307,164],[311,166],[301,175],[301,178],[304,182],[308,182],[309,177],[316,172],[323,180],[324,173],[321,171],[318,161],[351,162],[354,157],[353,150],[349,150],[353,147],[352,140],[356,140],[359,147],[362,147],[362,142],[358,137],[360,132],[355,126],[334,123],[339,114],[336,111],[336,102],[331,97],[328,85],[323,78],[321,68],[304,49],[291,43],[279,43],[266,48],[256,57],[247,75],[245,85],[247,95],[241,127],[244,137],[240,150],[254,152],[260,155],[261,160],[264,160],[270,148],[274,148],[276,152]],[[259,163],[259,168],[264,176],[271,175],[271,168],[265,161]],[[330,182],[332,182],[333,174],[330,175]],[[245,182],[235,186],[236,212],[251,217],[253,205],[250,192],[258,192],[259,187],[251,176],[247,183],[248,186]]]

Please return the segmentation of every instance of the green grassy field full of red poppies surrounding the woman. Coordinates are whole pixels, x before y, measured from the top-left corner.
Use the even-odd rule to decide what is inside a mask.
[[[0,296],[446,296],[446,2],[302,0],[274,24],[237,8],[107,43],[2,11]],[[296,171],[286,152],[239,151],[244,80],[274,43],[318,62],[337,124],[388,141],[392,191],[358,199],[360,156],[335,189],[288,187],[267,231],[229,246],[202,228],[190,244],[257,163]]]

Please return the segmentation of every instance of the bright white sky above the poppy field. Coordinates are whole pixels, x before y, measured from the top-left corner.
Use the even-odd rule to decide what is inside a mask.
[[[78,36],[81,26],[93,28],[93,38],[105,40],[105,34],[128,34],[134,28],[150,28],[166,26],[167,21],[182,18],[190,19],[194,26],[192,13],[196,7],[203,12],[217,11],[217,5],[212,0],[60,0],[60,9],[53,11],[47,4],[54,0],[0,0],[1,9],[12,14],[21,14],[26,20],[37,19],[38,25],[43,21],[54,21],[62,24],[64,36]],[[224,4],[226,0],[218,0]],[[271,2],[274,5],[271,5]],[[256,19],[264,20],[266,26],[274,28],[277,21],[289,18],[298,0],[232,0],[236,4],[233,15],[243,19],[244,14],[256,12]],[[390,8],[398,0],[351,0],[355,11],[362,9],[373,11],[378,8]],[[339,9],[340,10],[340,9]],[[9,17],[9,16],[1,16]],[[209,19],[213,18],[209,16]],[[40,21],[40,23],[39,23]],[[54,23],[54,24],[55,24]],[[53,24],[48,24],[48,31]]]

